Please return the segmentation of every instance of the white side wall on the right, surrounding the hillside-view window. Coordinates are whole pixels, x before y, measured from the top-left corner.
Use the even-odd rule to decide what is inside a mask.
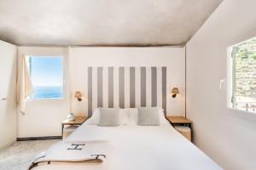
[[[256,168],[256,115],[227,109],[227,47],[256,36],[256,1],[224,0],[187,44],[187,116],[195,144],[226,170]]]

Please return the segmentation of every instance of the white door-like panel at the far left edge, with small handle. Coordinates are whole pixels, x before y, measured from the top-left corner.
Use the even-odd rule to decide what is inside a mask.
[[[16,51],[0,41],[0,149],[16,140]]]

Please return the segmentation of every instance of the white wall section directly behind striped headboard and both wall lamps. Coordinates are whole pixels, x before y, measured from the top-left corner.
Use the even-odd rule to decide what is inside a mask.
[[[177,86],[181,93],[176,99],[171,95],[167,96],[167,114],[184,116],[184,48],[70,48],[69,52],[72,94],[77,90],[85,94],[86,66],[167,66],[167,92],[171,92],[171,88]],[[86,102],[86,99],[83,102]],[[78,105],[77,103],[73,102],[73,108]],[[87,115],[85,107],[81,110]],[[78,113],[75,109],[73,111]]]

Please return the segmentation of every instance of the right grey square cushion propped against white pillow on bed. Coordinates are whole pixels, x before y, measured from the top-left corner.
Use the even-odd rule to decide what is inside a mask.
[[[159,126],[160,113],[158,107],[141,107],[138,109],[138,125]]]

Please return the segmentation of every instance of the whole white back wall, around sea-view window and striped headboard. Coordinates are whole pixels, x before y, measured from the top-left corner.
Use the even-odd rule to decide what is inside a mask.
[[[62,55],[66,57],[65,66],[68,83],[66,83],[66,99],[29,102],[26,105],[26,114],[18,112],[18,138],[61,135],[61,121],[67,117],[69,112],[69,99],[74,100],[75,91],[81,90],[83,92],[84,90],[83,77],[86,66],[168,66],[173,74],[170,78],[172,81],[169,82],[170,87],[167,87],[167,90],[170,91],[173,86],[177,86],[181,91],[176,99],[169,96],[167,102],[168,114],[184,115],[184,48],[19,47],[19,59],[23,54]],[[69,88],[69,84],[72,86],[71,88]],[[79,115],[78,111],[83,106],[84,103],[78,105],[73,101],[73,111],[76,115]],[[86,111],[82,111],[84,115],[87,114]]]

